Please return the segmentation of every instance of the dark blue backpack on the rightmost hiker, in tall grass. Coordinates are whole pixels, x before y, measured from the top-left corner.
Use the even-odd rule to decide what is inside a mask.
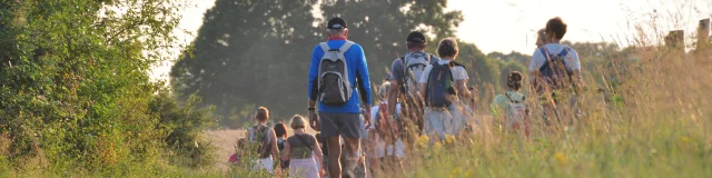
[[[542,78],[552,90],[565,89],[571,86],[572,72],[566,69],[564,58],[568,55],[568,47],[564,48],[558,55],[551,55],[546,48],[540,48],[542,55],[546,57],[546,61],[538,68]]]

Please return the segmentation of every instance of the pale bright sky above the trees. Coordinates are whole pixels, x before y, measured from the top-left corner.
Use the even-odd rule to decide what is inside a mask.
[[[185,43],[195,39],[202,26],[205,11],[215,6],[215,0],[195,0],[194,3],[182,12],[179,24],[190,33],[176,30]],[[561,17],[568,24],[564,40],[607,41],[625,47],[631,43],[626,37],[635,36],[636,27],[645,30],[655,27],[657,31],[685,30],[686,33],[695,31],[700,19],[712,16],[712,1],[448,0],[446,10],[463,12],[465,20],[457,28],[457,37],[475,43],[483,52],[532,53],[536,31],[553,17]],[[653,21],[655,26],[651,26]],[[154,67],[151,77],[167,79],[171,66],[172,62],[165,62]]]

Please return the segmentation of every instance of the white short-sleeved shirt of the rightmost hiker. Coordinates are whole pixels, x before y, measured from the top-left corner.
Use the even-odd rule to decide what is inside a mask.
[[[564,57],[564,63],[566,65],[566,69],[568,71],[581,69],[581,61],[578,61],[578,53],[576,53],[576,50],[568,48],[566,46],[563,46],[561,43],[547,43],[543,48],[545,48],[550,55],[558,55],[563,50],[568,50],[568,55]],[[536,51],[534,51],[534,55],[532,56],[532,61],[530,62],[530,67],[528,67],[530,71],[538,71],[538,69],[542,68],[542,66],[544,66],[546,60],[547,58],[546,56],[544,56],[544,53],[542,53],[542,50],[536,49]]]

